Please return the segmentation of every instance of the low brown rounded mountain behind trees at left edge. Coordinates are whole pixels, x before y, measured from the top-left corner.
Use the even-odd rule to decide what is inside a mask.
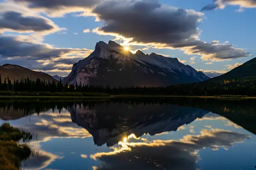
[[[0,66],[0,74],[2,81],[9,77],[9,79],[21,79],[21,78],[27,78],[29,77],[30,79],[32,78],[33,80],[36,80],[37,78],[42,79],[45,81],[51,81],[55,80],[50,76],[49,74],[42,73],[42,72],[37,72],[37,71],[32,71],[29,70],[28,68],[21,67],[19,65],[11,65],[11,64],[5,64]]]

